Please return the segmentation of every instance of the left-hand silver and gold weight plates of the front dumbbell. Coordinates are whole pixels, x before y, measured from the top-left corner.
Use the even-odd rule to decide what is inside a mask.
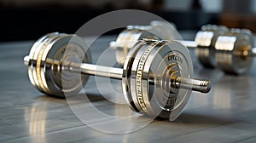
[[[75,43],[69,43],[73,38]],[[46,94],[64,97],[82,89],[88,79],[86,75],[61,72],[61,63],[66,60],[90,63],[90,51],[86,51],[83,41],[79,37],[67,34],[50,33],[38,39],[30,51],[28,76],[33,86]],[[64,56],[65,51],[67,54]],[[65,57],[63,59],[63,57]],[[51,65],[49,65],[51,63]],[[65,89],[63,88],[65,86]]]

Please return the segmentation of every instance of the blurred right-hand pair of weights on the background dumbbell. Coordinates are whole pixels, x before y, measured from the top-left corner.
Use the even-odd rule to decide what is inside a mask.
[[[224,72],[242,74],[247,72],[256,55],[253,48],[253,34],[247,29],[229,29],[214,38],[211,48],[207,42],[211,39],[208,31],[199,31],[195,36],[195,54],[203,66],[218,66]],[[213,39],[212,38],[212,39]],[[191,42],[192,43],[192,42]],[[210,58],[206,58],[210,57]]]

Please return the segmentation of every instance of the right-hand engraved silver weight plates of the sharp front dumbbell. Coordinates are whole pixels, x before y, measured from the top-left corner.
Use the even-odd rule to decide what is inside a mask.
[[[191,65],[189,51],[180,43],[154,40],[137,43],[125,60],[122,80],[125,100],[136,112],[174,120],[189,100],[191,89],[176,89],[173,84],[183,81],[172,79],[191,77]]]

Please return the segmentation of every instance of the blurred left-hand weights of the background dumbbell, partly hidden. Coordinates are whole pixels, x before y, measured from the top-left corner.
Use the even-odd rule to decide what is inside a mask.
[[[151,21],[149,26],[127,26],[116,41],[109,43],[116,50],[116,60],[120,66],[124,66],[125,57],[134,44],[143,38],[173,40],[181,37],[178,37],[176,26],[166,21]]]

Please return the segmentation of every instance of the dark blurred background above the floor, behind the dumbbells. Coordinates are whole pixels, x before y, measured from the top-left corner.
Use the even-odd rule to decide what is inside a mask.
[[[180,31],[210,23],[256,32],[256,0],[0,0],[0,42],[36,39],[52,31],[73,33],[116,9],[158,14]]]

